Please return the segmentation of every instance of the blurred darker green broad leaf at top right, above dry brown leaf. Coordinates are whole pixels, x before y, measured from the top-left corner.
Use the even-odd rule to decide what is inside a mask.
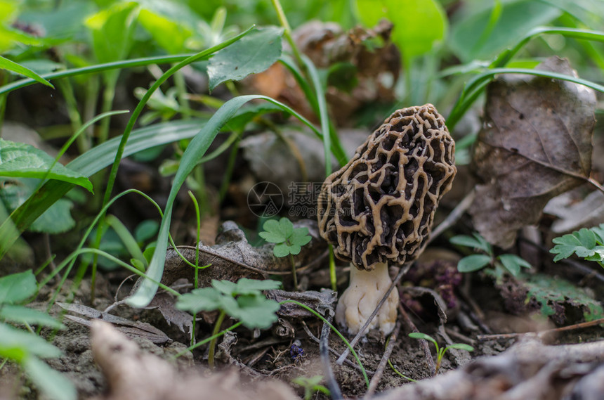
[[[454,19],[449,36],[452,50],[464,63],[475,59],[489,59],[499,51],[515,44],[533,27],[546,25],[558,18],[560,10],[545,1],[502,1],[503,7],[497,22],[489,27],[496,1],[478,13],[466,13]],[[488,37],[480,34],[490,30]]]

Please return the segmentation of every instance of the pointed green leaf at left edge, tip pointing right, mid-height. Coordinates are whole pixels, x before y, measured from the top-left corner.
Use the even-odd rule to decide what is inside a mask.
[[[54,164],[54,165],[53,165]],[[52,169],[48,172],[48,169]],[[26,143],[0,138],[0,176],[57,179],[82,186],[92,192],[92,183],[86,176],[55,163],[44,151]]]

